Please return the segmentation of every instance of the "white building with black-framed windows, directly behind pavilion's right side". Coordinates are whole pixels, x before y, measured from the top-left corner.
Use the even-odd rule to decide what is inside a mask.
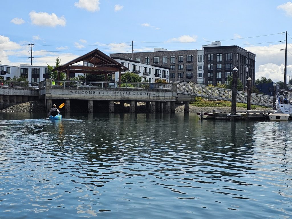
[[[156,79],[164,79],[169,83],[169,68],[161,65],[147,65],[140,61],[135,61],[126,58],[112,57],[117,62],[128,68],[129,72],[133,72],[142,77],[142,82],[153,83]],[[121,72],[124,74],[125,72]],[[113,76],[115,81],[119,81],[119,72],[116,72]]]

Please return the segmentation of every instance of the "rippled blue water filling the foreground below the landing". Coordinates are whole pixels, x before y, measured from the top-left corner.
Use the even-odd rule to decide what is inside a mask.
[[[291,121],[64,117],[0,114],[1,219],[292,218]]]

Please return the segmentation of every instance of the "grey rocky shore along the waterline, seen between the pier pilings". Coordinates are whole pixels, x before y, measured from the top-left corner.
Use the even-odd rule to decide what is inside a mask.
[[[138,102],[137,110],[138,113],[145,112],[145,105],[146,103]],[[13,106],[10,106],[8,108],[0,110],[0,112],[44,112],[44,102],[38,102],[38,101],[30,101],[25,103],[16,104]],[[98,107],[99,109],[107,109],[104,105]],[[119,112],[119,102],[115,102],[115,112]],[[175,112],[184,112],[185,106],[184,104],[176,104],[175,105]],[[231,107],[195,107],[192,105],[189,105],[190,112],[212,112],[213,109],[226,109],[230,110]],[[245,110],[246,108],[243,107],[237,107],[237,110]],[[269,108],[264,107],[257,107],[255,110],[268,110]],[[78,109],[74,109],[78,110]],[[103,112],[105,112],[104,110]],[[130,112],[130,104],[124,103],[124,111],[123,112]]]

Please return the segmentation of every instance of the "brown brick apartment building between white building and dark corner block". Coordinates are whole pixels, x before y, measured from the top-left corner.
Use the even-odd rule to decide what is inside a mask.
[[[197,83],[197,51],[154,48],[154,52],[112,53],[109,56],[130,59],[154,67],[166,67],[169,69],[169,81]]]

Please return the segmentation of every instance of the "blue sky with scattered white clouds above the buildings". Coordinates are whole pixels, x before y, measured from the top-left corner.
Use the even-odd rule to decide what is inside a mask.
[[[221,41],[256,54],[256,79],[292,79],[292,3],[281,0],[1,0],[3,65],[65,64],[103,53],[201,50]],[[31,45],[34,44],[32,49]]]

